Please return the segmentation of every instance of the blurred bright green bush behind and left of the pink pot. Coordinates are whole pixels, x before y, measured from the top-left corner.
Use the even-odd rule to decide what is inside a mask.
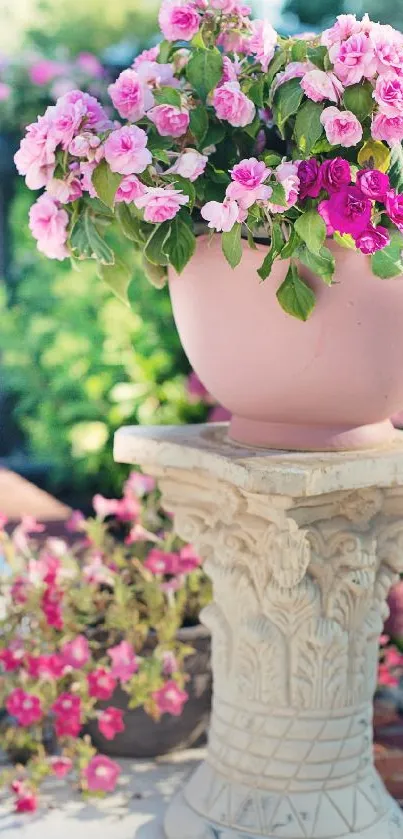
[[[48,462],[48,488],[85,506],[94,492],[114,494],[123,467],[113,463],[122,424],[203,420],[190,405],[188,362],[174,326],[169,294],[141,269],[130,311],[103,286],[91,265],[73,270],[36,251],[27,227],[32,195],[14,202],[15,283],[0,293],[3,387],[28,454]]]

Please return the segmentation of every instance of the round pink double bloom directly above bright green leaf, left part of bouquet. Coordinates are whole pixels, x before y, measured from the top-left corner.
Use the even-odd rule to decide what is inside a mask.
[[[120,175],[139,175],[152,163],[147,149],[147,134],[136,125],[126,125],[112,131],[105,142],[105,159],[112,172]]]

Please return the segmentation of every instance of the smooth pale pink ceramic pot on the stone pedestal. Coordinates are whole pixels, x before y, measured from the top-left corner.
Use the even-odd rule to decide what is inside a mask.
[[[264,283],[265,247],[245,244],[233,271],[220,237],[198,239],[181,276],[170,278],[176,324],[189,361],[233,415],[232,440],[292,450],[390,443],[389,417],[403,407],[403,277],[380,280],[361,254],[331,243],[335,285],[301,266],[317,294],[303,323],[276,299],[288,263]]]

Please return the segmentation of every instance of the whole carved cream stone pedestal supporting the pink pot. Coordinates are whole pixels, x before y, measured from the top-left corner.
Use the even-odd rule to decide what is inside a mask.
[[[208,757],[168,839],[403,839],[373,763],[386,598],[403,570],[403,435],[368,453],[248,450],[227,428],[123,429],[214,583]]]

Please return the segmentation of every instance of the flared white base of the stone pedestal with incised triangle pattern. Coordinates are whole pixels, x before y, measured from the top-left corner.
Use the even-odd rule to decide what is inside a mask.
[[[375,771],[356,789],[289,796],[242,790],[214,775],[203,764],[174,799],[165,819],[167,839],[403,839],[403,813]],[[208,788],[206,783],[212,778]],[[373,791],[373,803],[360,792],[364,788]],[[212,802],[209,816],[189,803],[189,798],[196,797],[200,807],[207,799]]]

